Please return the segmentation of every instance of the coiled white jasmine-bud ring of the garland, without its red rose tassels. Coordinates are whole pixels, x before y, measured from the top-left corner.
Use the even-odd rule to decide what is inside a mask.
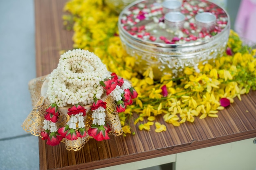
[[[106,65],[89,51],[67,51],[49,77],[47,96],[58,107],[67,104],[92,104],[94,97],[101,98],[101,81],[110,77]]]

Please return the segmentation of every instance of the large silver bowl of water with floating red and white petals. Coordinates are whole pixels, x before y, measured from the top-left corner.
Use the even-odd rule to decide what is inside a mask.
[[[155,79],[165,73],[177,77],[184,67],[197,69],[198,63],[206,63],[225,51],[230,20],[224,9],[206,0],[184,0],[180,11],[165,13],[163,2],[135,1],[119,14],[121,42],[127,53],[136,58],[136,71],[143,73],[152,67]],[[166,18],[170,13],[184,15],[183,23],[174,20],[170,24]],[[207,17],[202,16],[195,19],[203,13],[211,13],[216,20],[209,17],[207,22]]]

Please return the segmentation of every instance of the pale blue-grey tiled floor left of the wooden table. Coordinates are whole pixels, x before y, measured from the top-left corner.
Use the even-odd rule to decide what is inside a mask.
[[[234,20],[240,1],[228,2]],[[36,77],[34,0],[0,0],[0,16],[0,169],[38,170],[38,138],[21,127]]]

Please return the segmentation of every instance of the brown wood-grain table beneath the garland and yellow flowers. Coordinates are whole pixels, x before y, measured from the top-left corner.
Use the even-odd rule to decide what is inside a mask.
[[[63,29],[63,20],[61,19],[66,1],[34,1],[36,73],[38,77],[49,74],[56,68],[60,56],[59,51],[72,49],[73,32]],[[210,146],[225,147],[221,144],[255,138],[256,91],[243,95],[241,102],[236,98],[234,104],[220,111],[218,115],[218,118],[207,117],[202,120],[196,118],[194,123],[185,123],[179,127],[166,124],[166,132],[161,133],[156,133],[153,130],[139,131],[137,127],[132,127],[136,135],[110,137],[110,140],[100,142],[91,139],[80,151],[67,151],[63,143],[54,147],[47,146],[45,141],[39,139],[40,170],[87,170],[115,167],[136,161],[142,161],[144,166],[141,167],[143,168],[164,163],[165,161],[161,162],[161,160],[165,160],[165,158],[170,162],[174,159],[178,163],[178,154],[187,153],[186,151],[197,151],[200,148],[211,148]],[[159,117],[157,121],[164,124],[162,117]],[[252,141],[250,144],[253,144]],[[256,161],[256,144],[252,147],[251,155],[254,155],[253,159]],[[171,155],[171,157],[167,155]],[[192,157],[191,159],[193,159]],[[146,162],[146,160],[149,161]],[[248,164],[248,162],[246,163]],[[252,162],[249,160],[249,163]],[[127,165],[130,168],[124,169],[136,169],[131,166],[136,163]],[[137,168],[139,167],[137,166]],[[117,169],[120,168],[117,166]]]

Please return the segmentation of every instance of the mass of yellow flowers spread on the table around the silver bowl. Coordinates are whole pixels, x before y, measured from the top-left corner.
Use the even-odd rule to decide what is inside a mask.
[[[88,8],[90,7],[90,8]],[[129,133],[128,122],[155,121],[162,115],[164,121],[180,126],[195,117],[218,117],[218,110],[224,109],[219,100],[223,97],[234,102],[234,97],[256,89],[256,49],[243,47],[238,34],[230,30],[227,46],[233,56],[225,52],[222,56],[205,63],[198,63],[200,72],[185,67],[183,73],[174,77],[171,73],[158,73],[157,64],[145,67],[142,75],[137,73],[137,59],[128,55],[122,46],[117,27],[119,15],[103,3],[103,0],[69,0],[63,15],[65,27],[73,23],[74,48],[89,50],[98,55],[108,71],[127,79],[138,93],[133,104],[124,113],[119,113],[125,134]],[[155,76],[155,77],[154,77]],[[155,79],[155,78],[158,79]],[[166,85],[168,96],[163,97],[161,87]],[[132,114],[137,114],[133,119]],[[140,124],[139,129],[150,130],[150,124]],[[166,126],[156,122],[156,132],[166,130]]]

